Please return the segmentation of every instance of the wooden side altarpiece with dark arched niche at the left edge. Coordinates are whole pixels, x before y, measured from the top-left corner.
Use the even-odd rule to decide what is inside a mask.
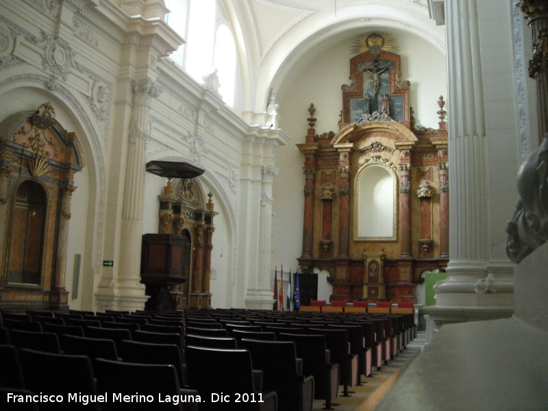
[[[0,123],[0,308],[69,309],[71,198],[85,165],[49,102]]]

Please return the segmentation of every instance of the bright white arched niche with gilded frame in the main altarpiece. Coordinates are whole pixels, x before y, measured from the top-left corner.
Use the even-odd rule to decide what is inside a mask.
[[[358,170],[353,210],[354,240],[397,240],[397,175],[392,167],[372,163]]]

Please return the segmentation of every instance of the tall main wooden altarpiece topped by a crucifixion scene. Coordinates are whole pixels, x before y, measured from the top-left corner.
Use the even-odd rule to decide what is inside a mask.
[[[382,49],[351,58],[349,78],[339,131],[316,134],[311,104],[297,145],[305,156],[297,260],[305,273],[329,271],[332,299],[414,301],[421,274],[449,258],[445,102],[437,102],[438,129],[416,127],[400,56]],[[381,197],[375,175],[388,182]],[[371,212],[386,198],[380,216]],[[372,268],[382,271],[370,277]]]

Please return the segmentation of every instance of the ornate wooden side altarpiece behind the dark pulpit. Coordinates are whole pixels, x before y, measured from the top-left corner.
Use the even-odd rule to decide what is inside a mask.
[[[208,194],[207,203],[203,197],[195,178],[170,178],[163,194],[158,196],[158,243],[171,247],[171,256],[175,256],[172,259],[175,262],[172,279],[175,276],[180,280],[168,284],[173,306],[163,308],[211,307],[213,219],[217,212],[214,211],[212,194]]]

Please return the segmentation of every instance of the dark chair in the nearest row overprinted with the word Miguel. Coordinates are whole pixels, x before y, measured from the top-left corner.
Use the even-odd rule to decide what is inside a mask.
[[[62,395],[64,402],[40,403],[40,411],[59,411],[67,405],[71,411],[99,410],[98,403],[71,402],[69,394],[96,395],[91,361],[86,356],[45,353],[31,349],[19,350],[25,387],[32,393]]]

